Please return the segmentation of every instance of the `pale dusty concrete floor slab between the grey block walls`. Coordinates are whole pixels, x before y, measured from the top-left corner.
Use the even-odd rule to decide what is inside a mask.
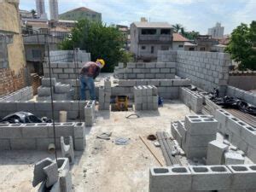
[[[71,167],[73,191],[115,192],[148,191],[149,167],[160,166],[148,148],[139,139],[155,131],[170,132],[170,123],[190,114],[181,102],[172,101],[158,111],[139,112],[139,119],[125,119],[134,113],[98,113],[96,125],[86,130],[86,149],[75,151],[75,164]],[[96,139],[102,131],[112,131],[111,140]],[[130,138],[128,145],[115,145],[117,137]],[[164,160],[160,148],[156,149]],[[20,192],[32,188],[33,167],[38,160],[54,154],[37,151],[5,151],[0,154],[0,191]],[[59,153],[61,156],[61,153]]]

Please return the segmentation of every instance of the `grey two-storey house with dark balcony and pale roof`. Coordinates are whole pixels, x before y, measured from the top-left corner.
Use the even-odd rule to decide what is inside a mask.
[[[166,22],[131,23],[131,52],[137,61],[155,61],[158,50],[172,49],[172,26]]]

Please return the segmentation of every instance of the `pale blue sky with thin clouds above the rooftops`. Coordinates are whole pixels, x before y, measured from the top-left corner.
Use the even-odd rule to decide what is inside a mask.
[[[102,13],[107,24],[130,26],[146,17],[151,22],[182,24],[186,31],[207,34],[207,29],[221,22],[224,34],[236,26],[256,20],[256,0],[59,0],[59,13],[86,7]],[[35,0],[20,0],[20,9],[36,9]],[[49,0],[45,0],[49,15]]]

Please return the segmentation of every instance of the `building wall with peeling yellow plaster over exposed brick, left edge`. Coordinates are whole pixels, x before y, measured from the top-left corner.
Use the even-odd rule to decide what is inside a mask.
[[[0,96],[26,85],[26,60],[19,1],[0,1]]]

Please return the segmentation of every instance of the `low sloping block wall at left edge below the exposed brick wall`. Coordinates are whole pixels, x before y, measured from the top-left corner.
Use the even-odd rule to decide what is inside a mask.
[[[9,95],[0,97],[0,101],[28,101],[33,98],[32,87],[24,87],[20,90],[16,90]]]

